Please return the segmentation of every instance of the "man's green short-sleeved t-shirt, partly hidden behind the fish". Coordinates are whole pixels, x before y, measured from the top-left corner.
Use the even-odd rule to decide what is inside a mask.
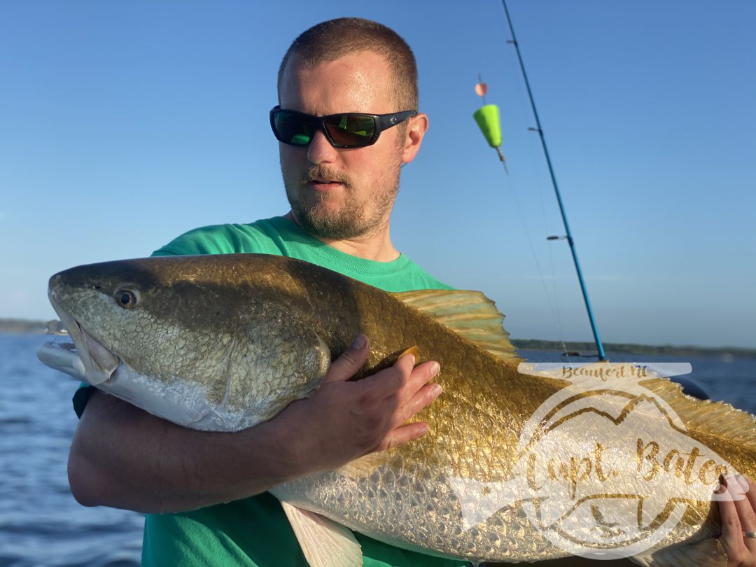
[[[230,253],[290,256],[339,271],[386,291],[451,289],[407,256],[399,256],[393,262],[373,262],[350,256],[314,239],[283,217],[250,225],[197,228],[156,250],[153,256]],[[81,395],[79,398],[79,414],[86,397]],[[355,537],[362,546],[365,567],[469,565],[460,560],[438,559],[401,550],[359,533],[355,533]],[[280,503],[266,492],[191,512],[147,514],[142,565],[307,567],[307,562]]]

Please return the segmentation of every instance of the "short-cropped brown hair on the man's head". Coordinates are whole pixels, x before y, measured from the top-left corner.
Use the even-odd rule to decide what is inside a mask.
[[[392,98],[396,110],[417,109],[417,63],[407,42],[382,23],[359,17],[339,17],[318,23],[303,32],[283,56],[278,68],[278,92],[281,78],[292,55],[304,67],[317,67],[357,51],[383,55],[394,74]]]

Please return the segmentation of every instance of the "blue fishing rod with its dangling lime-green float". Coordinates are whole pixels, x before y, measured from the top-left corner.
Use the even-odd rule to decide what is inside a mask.
[[[556,175],[554,174],[554,168],[551,165],[551,158],[549,156],[549,150],[546,146],[546,138],[544,137],[544,130],[541,128],[541,120],[538,119],[538,110],[535,108],[535,101],[533,99],[533,93],[530,89],[530,82],[528,82],[528,73],[525,73],[525,64],[522,62],[522,54],[519,50],[519,45],[517,43],[517,38],[515,36],[515,29],[512,25],[512,18],[510,17],[510,11],[507,9],[507,0],[501,0],[501,4],[504,8],[504,14],[507,15],[507,23],[510,26],[510,33],[512,34],[512,39],[508,39],[507,43],[510,43],[514,45],[515,51],[517,52],[517,59],[519,60],[519,66],[520,70],[522,70],[522,78],[525,79],[525,88],[528,90],[528,98],[530,99],[530,105],[533,109],[533,116],[535,117],[535,128],[529,128],[528,130],[531,130],[533,132],[538,132],[538,136],[541,138],[541,146],[544,148],[544,155],[546,156],[546,163],[549,166],[549,174],[551,175],[551,183],[554,187],[554,193],[556,194],[556,202],[559,203],[559,212],[562,213],[562,222],[565,226],[565,235],[564,236],[550,236],[547,237],[547,240],[567,240],[567,243],[569,243],[569,249],[572,253],[572,260],[575,262],[575,271],[578,272],[578,281],[580,282],[580,289],[583,293],[583,299],[585,302],[585,308],[588,313],[588,320],[590,321],[590,330],[593,331],[593,341],[596,342],[596,350],[598,351],[598,356],[600,361],[606,360],[606,355],[604,354],[604,347],[601,344],[601,339],[599,337],[599,329],[596,327],[596,320],[593,318],[593,311],[590,308],[590,300],[588,299],[588,290],[585,287],[585,281],[583,280],[583,273],[580,269],[580,262],[578,262],[578,252],[575,249],[575,240],[572,238],[572,233],[569,230],[569,223],[567,222],[567,213],[565,212],[564,203],[562,203],[562,196],[559,194],[559,186],[556,183]],[[479,83],[480,84],[480,83]],[[485,95],[485,85],[483,86],[483,94],[479,92],[478,94],[480,96]],[[476,86],[476,92],[478,91],[478,87]],[[485,98],[483,99],[484,107],[477,110],[476,113],[473,115],[475,116],[476,122],[478,122],[478,125],[480,126],[483,135],[485,135],[485,138],[488,140],[488,144],[491,145],[491,147],[496,147],[497,152],[499,153],[499,158],[503,162],[504,157],[501,153],[501,150],[498,146],[501,144],[501,135],[500,135],[500,126],[499,126],[499,116],[498,116],[498,109],[493,104],[485,105]],[[493,107],[491,109],[490,107]],[[494,112],[495,109],[495,112]],[[497,142],[497,144],[494,145],[494,142]],[[505,165],[506,169],[506,165]]]

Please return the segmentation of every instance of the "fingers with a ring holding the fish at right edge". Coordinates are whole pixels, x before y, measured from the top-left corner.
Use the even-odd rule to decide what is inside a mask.
[[[756,567],[756,538],[747,538],[743,534],[743,531],[756,532],[756,484],[745,475],[730,476],[721,484],[720,491],[726,490],[732,497],[719,503],[722,516],[719,541],[727,553],[727,567]],[[745,497],[742,497],[745,490]]]

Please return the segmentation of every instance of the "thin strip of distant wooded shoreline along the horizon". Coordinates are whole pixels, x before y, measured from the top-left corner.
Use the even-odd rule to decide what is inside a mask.
[[[0,335],[2,334],[44,334],[48,331],[60,331],[60,321],[32,321],[29,319],[4,319],[0,318]],[[547,350],[564,352],[565,346],[568,352],[579,352],[581,355],[590,355],[596,352],[593,342],[584,341],[547,341],[541,339],[510,339],[517,349]],[[740,347],[705,347],[690,345],[636,345],[626,342],[604,342],[606,352],[622,352],[633,355],[671,355],[671,356],[711,356],[736,358],[756,358],[756,349],[743,349]]]

